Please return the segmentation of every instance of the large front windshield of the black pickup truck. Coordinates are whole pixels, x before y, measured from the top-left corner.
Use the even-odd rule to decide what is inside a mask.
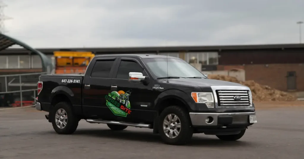
[[[168,75],[167,58],[144,58],[143,61],[151,70],[155,78],[170,76],[181,78],[206,78],[199,70],[181,59],[168,58]]]

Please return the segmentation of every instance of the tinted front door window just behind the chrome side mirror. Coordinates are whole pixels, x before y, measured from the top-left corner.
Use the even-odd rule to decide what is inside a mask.
[[[118,79],[129,79],[129,72],[141,72],[143,69],[134,61],[121,61],[116,78]]]

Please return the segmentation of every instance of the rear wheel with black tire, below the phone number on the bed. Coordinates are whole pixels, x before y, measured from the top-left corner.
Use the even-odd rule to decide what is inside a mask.
[[[63,121],[65,121],[66,125],[64,126],[64,122],[63,121],[59,121],[59,126],[57,126],[56,122],[57,117],[62,117],[61,115],[58,115],[59,110],[61,110],[61,113],[64,115],[66,114],[66,120],[65,118],[61,118],[64,119]],[[65,113],[62,111],[64,110]],[[57,113],[58,111],[58,113]],[[55,105],[54,107],[54,113],[52,113],[53,118],[52,118],[52,125],[54,130],[58,133],[58,134],[72,134],[76,131],[77,127],[78,127],[78,122],[79,122],[79,118],[74,114],[73,110],[72,110],[72,106],[67,103],[67,102],[59,102]],[[63,128],[59,128],[60,127],[60,123],[62,124]]]

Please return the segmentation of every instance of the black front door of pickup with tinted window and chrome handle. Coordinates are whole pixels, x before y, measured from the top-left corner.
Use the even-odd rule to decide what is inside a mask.
[[[119,109],[112,110],[112,113],[123,121],[153,121],[155,111],[152,103],[155,98],[152,94],[152,82],[144,85],[128,81],[129,72],[148,75],[140,61],[136,58],[121,58],[116,65],[111,82],[111,96],[120,106]]]

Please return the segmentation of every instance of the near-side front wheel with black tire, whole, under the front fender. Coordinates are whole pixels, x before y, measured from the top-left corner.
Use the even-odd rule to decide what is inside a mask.
[[[172,125],[175,128],[171,128],[171,130],[175,129],[174,130],[175,132],[176,131],[179,132],[177,135],[176,135],[176,133],[174,133],[174,131],[171,131],[172,136],[170,136],[170,133],[169,133],[170,130],[167,127],[169,114],[171,114],[172,119],[174,118],[174,115],[176,115],[178,117],[178,119],[176,120],[176,123],[180,123],[180,124],[178,124],[180,126]],[[165,122],[164,120],[166,120],[167,122]],[[167,123],[167,124],[165,124],[165,123]],[[174,124],[174,123],[172,123],[172,124]],[[192,124],[191,124],[191,120],[190,120],[188,112],[178,106],[170,106],[168,108],[165,108],[161,112],[161,114],[159,116],[157,128],[158,128],[159,134],[161,135],[163,142],[165,144],[170,144],[170,145],[186,144],[193,135],[193,128],[192,128]],[[165,133],[165,131],[167,131],[169,134]]]

